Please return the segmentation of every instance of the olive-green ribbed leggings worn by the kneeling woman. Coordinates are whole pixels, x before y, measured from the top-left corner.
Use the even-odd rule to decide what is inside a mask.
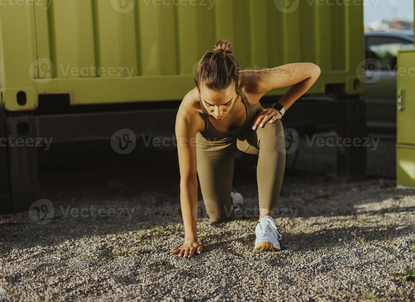
[[[259,207],[275,207],[285,170],[285,142],[281,120],[250,127],[220,140],[196,135],[197,172],[206,213],[213,222],[226,221],[232,205],[234,154],[237,150],[258,155],[256,179]]]

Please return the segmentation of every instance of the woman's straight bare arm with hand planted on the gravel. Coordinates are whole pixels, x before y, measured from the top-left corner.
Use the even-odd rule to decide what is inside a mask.
[[[176,140],[180,167],[180,205],[183,216],[185,242],[171,255],[191,258],[202,246],[198,243],[198,179],[196,163],[196,133],[201,119],[195,108],[192,108],[190,96],[186,95],[176,116]],[[204,121],[203,121],[204,125]]]

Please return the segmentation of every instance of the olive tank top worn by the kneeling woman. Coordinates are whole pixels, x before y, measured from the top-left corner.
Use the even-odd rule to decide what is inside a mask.
[[[206,110],[205,106],[203,106],[202,98],[200,97],[200,93],[198,93],[199,94],[200,108],[202,108],[203,118],[205,119],[205,130],[200,131],[200,134],[203,137],[205,137],[207,140],[222,140],[225,137],[228,137],[228,136],[231,136],[231,135],[236,135],[236,134],[240,133],[242,130],[244,130],[248,127],[251,127],[255,116],[262,109],[261,103],[258,102],[255,105],[252,105],[251,103],[249,103],[247,96],[245,96],[244,91],[242,91],[242,88],[239,85],[237,87],[237,92],[239,93],[239,95],[242,98],[242,101],[245,104],[245,108],[247,110],[247,119],[242,124],[242,126],[236,128],[236,129],[230,130],[230,131],[220,131],[220,130],[217,130],[215,128],[215,126],[212,124],[212,122],[209,119],[209,115],[207,113],[207,110]]]

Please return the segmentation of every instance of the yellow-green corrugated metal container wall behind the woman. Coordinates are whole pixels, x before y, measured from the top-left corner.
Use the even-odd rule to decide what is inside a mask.
[[[33,110],[43,93],[69,93],[71,104],[181,100],[194,87],[195,64],[222,38],[233,42],[243,69],[313,62],[322,74],[309,93],[324,93],[334,83],[344,84],[344,93],[362,93],[363,83],[354,88],[364,59],[362,5],[301,1],[293,12],[281,12],[277,2],[37,0],[2,6],[2,102],[7,110]],[[26,93],[20,105],[19,91]]]

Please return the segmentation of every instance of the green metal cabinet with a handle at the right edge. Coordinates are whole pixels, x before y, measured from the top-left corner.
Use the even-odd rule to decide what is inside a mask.
[[[415,187],[415,49],[398,51],[396,184]]]

